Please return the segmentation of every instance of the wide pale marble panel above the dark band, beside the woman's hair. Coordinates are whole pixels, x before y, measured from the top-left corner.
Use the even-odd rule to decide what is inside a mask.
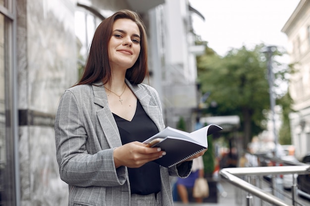
[[[68,0],[27,1],[31,110],[54,113],[61,93],[77,81],[74,8]]]

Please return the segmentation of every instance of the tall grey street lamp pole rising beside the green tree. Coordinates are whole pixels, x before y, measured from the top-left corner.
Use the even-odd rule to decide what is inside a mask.
[[[275,107],[275,96],[274,96],[274,73],[272,71],[272,56],[273,52],[276,50],[276,46],[267,46],[266,50],[264,53],[267,54],[267,69],[268,69],[268,83],[269,83],[269,95],[270,95],[270,110],[271,110],[271,121],[273,124],[273,139],[274,139],[274,157],[278,157],[278,150],[277,150],[277,145],[278,145],[278,135],[276,131],[276,123],[275,123],[275,112],[274,112],[274,107]]]

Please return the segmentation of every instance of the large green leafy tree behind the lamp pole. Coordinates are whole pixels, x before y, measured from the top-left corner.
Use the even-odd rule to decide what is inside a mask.
[[[269,85],[267,81],[267,62],[262,52],[265,46],[257,45],[249,50],[245,46],[230,50],[224,57],[210,52],[207,48],[204,55],[197,58],[198,80],[202,92],[210,92],[207,102],[216,102],[216,107],[207,110],[214,115],[238,115],[241,120],[240,129],[244,136],[244,147],[257,135],[265,125],[269,111]],[[283,52],[275,51],[281,56]],[[286,80],[287,67],[274,62],[277,68],[277,82]]]

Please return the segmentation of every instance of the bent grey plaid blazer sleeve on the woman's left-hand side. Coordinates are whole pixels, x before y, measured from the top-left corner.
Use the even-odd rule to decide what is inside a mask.
[[[112,148],[95,154],[87,152],[87,138],[94,137],[89,137],[86,132],[84,121],[88,117],[83,106],[68,90],[59,101],[55,117],[55,143],[60,178],[80,187],[124,184],[126,170],[125,167],[115,169]]]

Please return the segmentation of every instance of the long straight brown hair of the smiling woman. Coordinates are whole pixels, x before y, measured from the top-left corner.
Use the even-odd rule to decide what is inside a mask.
[[[149,76],[148,44],[145,26],[138,13],[124,9],[104,19],[97,27],[89,49],[83,76],[76,85],[111,82],[112,72],[108,58],[108,42],[112,36],[113,24],[117,19],[130,19],[134,21],[139,28],[141,36],[139,57],[135,64],[127,69],[126,79],[133,84],[138,84],[143,82],[146,76]]]

